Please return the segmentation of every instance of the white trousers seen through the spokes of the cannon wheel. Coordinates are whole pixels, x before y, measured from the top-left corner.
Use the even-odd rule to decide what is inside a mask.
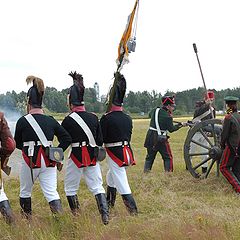
[[[203,137],[203,135],[200,132],[196,132],[193,135],[192,139],[194,141],[196,141],[196,142],[201,143],[202,145],[205,145],[205,146],[209,147],[209,143],[207,142],[207,140]],[[197,144],[195,144],[193,142],[190,143],[190,151],[189,151],[189,153],[195,153],[195,152],[197,152],[197,153],[204,153],[204,152],[207,152],[207,151],[208,150],[206,148],[198,146]],[[201,156],[202,161],[204,161],[207,158],[208,158],[208,155],[202,155]],[[202,165],[202,167],[208,167],[208,162],[204,163]]]

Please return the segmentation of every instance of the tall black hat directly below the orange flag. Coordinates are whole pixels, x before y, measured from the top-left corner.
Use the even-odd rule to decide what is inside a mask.
[[[126,87],[127,87],[126,79],[123,76],[123,74],[121,74],[120,72],[115,72],[114,78],[116,80],[116,85],[115,85],[112,104],[116,106],[122,106],[123,99],[126,93]]]

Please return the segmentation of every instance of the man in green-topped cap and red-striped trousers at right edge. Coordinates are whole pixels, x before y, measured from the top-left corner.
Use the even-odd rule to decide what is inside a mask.
[[[223,149],[220,171],[237,193],[240,193],[240,114],[237,111],[237,97],[224,98],[227,115],[221,134]]]

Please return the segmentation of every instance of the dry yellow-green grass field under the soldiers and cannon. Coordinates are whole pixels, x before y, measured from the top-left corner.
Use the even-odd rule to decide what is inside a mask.
[[[64,173],[61,172],[58,188],[64,215],[52,217],[36,183],[32,197],[33,220],[29,224],[20,215],[18,179],[5,178],[5,191],[17,224],[10,227],[1,218],[1,239],[240,239],[240,197],[230,184],[223,176],[216,177],[214,170],[203,180],[194,179],[185,170],[183,144],[187,127],[170,134],[174,172],[163,172],[158,155],[152,172],[143,174],[146,154],[143,142],[148,125],[149,120],[134,120],[132,147],[137,165],[128,169],[128,177],[139,208],[137,217],[129,216],[118,195],[110,223],[102,225],[95,198],[84,181],[78,193],[81,213],[73,217],[64,195]],[[105,182],[106,162],[101,165]]]

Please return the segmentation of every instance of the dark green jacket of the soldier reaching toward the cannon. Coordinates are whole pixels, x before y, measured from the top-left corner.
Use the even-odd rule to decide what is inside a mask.
[[[147,135],[144,142],[144,147],[153,147],[155,144],[155,140],[157,138],[157,127],[155,123],[155,112],[156,109],[153,109],[149,116],[151,117],[150,120],[150,126],[147,131]],[[167,131],[167,132],[174,132],[177,131],[179,128],[181,128],[181,124],[173,124],[173,118],[165,108],[160,108],[159,114],[158,114],[158,123],[161,131]],[[155,130],[153,130],[155,129]]]

